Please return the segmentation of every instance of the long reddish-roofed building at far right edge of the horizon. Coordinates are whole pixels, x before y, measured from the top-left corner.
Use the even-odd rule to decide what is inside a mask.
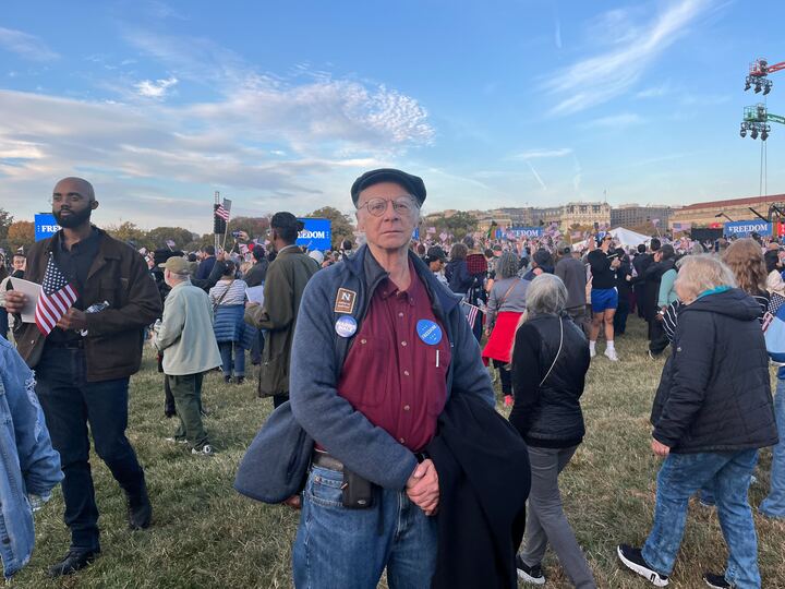
[[[750,211],[754,208],[762,216],[769,216],[769,208],[774,205],[785,212],[785,194],[769,196],[751,196],[748,199],[730,199],[727,201],[711,201],[696,203],[674,211],[669,218],[669,228],[676,224],[678,227],[722,227],[729,219],[751,220],[758,216]],[[776,216],[776,212],[772,212]]]

